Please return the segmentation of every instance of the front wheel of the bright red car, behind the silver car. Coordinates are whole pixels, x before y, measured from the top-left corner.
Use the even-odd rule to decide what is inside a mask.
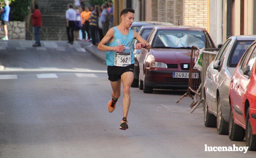
[[[233,140],[233,141],[242,141],[244,140],[244,135],[245,135],[244,128],[234,123],[233,111],[232,111],[232,107],[230,107],[228,137],[230,140]]]

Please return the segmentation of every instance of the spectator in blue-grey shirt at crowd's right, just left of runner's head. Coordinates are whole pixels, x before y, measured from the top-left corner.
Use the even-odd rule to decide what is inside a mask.
[[[103,36],[105,36],[106,33],[108,32],[109,12],[107,10],[106,4],[102,4],[101,9],[102,9],[102,13],[101,13],[101,16],[100,16],[100,22],[102,23]]]

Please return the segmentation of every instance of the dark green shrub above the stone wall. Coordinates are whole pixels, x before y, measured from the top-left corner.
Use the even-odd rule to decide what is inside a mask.
[[[3,2],[4,0],[0,0]],[[28,15],[31,0],[9,0],[10,16],[9,21],[24,21]]]

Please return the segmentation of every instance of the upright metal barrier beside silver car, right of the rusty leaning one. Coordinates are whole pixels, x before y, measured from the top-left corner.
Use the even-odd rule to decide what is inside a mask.
[[[197,98],[195,96],[194,100],[192,103],[194,103],[192,110],[190,111],[191,113],[194,112],[194,110],[202,103],[203,108],[205,109],[205,98],[202,96],[205,96],[204,94],[204,84],[205,84],[205,77],[206,77],[206,71],[210,63],[215,59],[217,52],[219,48],[214,48],[214,49],[204,49],[202,51],[202,70],[201,70],[201,95],[200,95],[200,100],[196,101]],[[215,52],[214,52],[215,51]]]

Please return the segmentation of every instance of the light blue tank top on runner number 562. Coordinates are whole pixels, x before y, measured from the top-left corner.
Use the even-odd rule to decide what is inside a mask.
[[[129,29],[128,35],[124,36],[119,32],[119,30],[116,27],[113,27],[115,30],[114,34],[114,40],[112,43],[107,43],[107,46],[110,47],[116,47],[118,45],[124,45],[125,47],[125,52],[130,52],[131,53],[131,64],[134,64],[134,54],[133,54],[133,49],[132,49],[132,43],[133,43],[133,31]],[[114,66],[115,65],[115,55],[116,51],[107,51],[106,54],[106,64],[108,66]]]

